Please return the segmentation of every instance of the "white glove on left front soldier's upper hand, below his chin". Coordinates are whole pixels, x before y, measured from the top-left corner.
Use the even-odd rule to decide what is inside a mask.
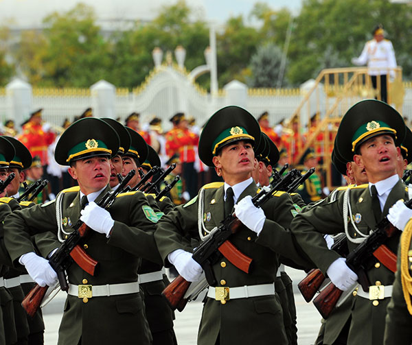
[[[108,211],[102,209],[102,207],[93,201],[89,202],[80,213],[82,215],[80,220],[84,222],[84,224],[96,232],[106,235],[107,238],[109,237],[115,221]]]

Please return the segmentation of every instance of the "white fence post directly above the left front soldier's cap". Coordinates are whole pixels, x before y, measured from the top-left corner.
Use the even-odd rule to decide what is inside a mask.
[[[115,119],[116,88],[106,80],[99,80],[90,86],[91,104],[95,117]]]

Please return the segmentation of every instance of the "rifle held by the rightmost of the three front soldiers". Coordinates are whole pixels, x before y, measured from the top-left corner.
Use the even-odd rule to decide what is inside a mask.
[[[404,204],[411,209],[412,199]],[[395,235],[397,231],[399,231],[398,228],[393,226],[387,217],[385,217],[376,225],[374,232],[347,255],[346,265],[358,275],[358,282],[361,284],[364,292],[369,291],[370,285],[366,274],[366,271],[369,268],[367,265],[370,261],[369,259],[371,259],[372,255],[377,257],[378,250],[382,244],[389,237]],[[314,298],[313,304],[318,309],[319,313],[321,313],[322,318],[328,318],[342,293],[343,291],[341,289],[338,289],[333,283],[330,283],[316,298]]]

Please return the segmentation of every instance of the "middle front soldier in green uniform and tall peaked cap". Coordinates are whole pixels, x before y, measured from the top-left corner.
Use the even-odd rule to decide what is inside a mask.
[[[301,257],[285,229],[293,218],[288,193],[275,193],[262,208],[251,202],[258,191],[251,178],[253,143],[258,145],[259,140],[259,124],[247,110],[237,106],[218,110],[203,128],[199,157],[215,167],[225,183],[203,186],[194,199],[176,206],[157,226],[155,238],[165,265],[173,264],[187,281],[196,281],[203,269],[192,259],[191,239],[207,239],[233,211],[233,204],[244,224],[230,241],[253,259],[253,269],[242,272],[225,257],[212,265],[217,284],[207,292],[199,345],[288,344],[274,280],[280,254]]]

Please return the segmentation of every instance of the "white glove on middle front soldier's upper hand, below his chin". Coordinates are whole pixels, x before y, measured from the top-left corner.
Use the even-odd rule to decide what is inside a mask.
[[[258,235],[262,231],[266,215],[260,207],[253,205],[251,195],[245,196],[235,205],[236,217]]]

